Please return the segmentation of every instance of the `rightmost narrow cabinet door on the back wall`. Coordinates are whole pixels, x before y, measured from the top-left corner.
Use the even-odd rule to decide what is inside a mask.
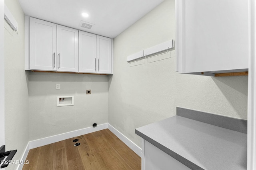
[[[111,74],[112,72],[112,40],[97,35],[97,71]]]

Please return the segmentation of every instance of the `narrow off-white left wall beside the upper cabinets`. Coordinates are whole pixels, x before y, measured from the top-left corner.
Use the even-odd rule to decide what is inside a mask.
[[[20,160],[28,144],[28,82],[24,70],[24,13],[18,0],[5,1],[18,22],[18,34],[5,22],[5,145],[17,149],[12,160]],[[14,169],[10,164],[6,169]]]

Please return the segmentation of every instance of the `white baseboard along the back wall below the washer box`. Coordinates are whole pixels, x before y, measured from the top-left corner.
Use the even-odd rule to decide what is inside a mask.
[[[46,137],[46,138],[42,138],[42,139],[37,139],[34,141],[30,141],[30,149],[34,149],[37,147],[42,147],[44,145],[49,145],[51,143],[55,143],[55,142],[59,142],[59,141],[63,141],[72,137],[77,137],[80,135],[85,135],[88,133],[92,133],[92,132],[96,132],[96,131],[100,131],[103,129],[107,129],[108,128],[108,123],[104,123],[101,125],[97,125],[97,127],[87,127],[84,129],[79,129],[76,131],[71,131],[71,132],[67,132],[67,133],[62,133],[59,135],[54,135],[51,137]]]

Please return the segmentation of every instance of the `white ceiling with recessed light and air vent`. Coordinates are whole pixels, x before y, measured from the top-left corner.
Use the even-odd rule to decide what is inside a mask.
[[[114,38],[164,0],[19,0],[27,16]],[[88,18],[82,12],[89,14]],[[85,21],[91,29],[80,27]]]

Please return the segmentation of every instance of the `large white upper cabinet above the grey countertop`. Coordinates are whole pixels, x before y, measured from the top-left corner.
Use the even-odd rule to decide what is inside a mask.
[[[176,0],[176,70],[248,71],[248,0]]]

